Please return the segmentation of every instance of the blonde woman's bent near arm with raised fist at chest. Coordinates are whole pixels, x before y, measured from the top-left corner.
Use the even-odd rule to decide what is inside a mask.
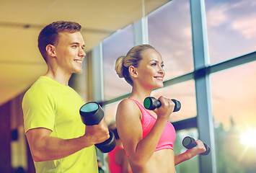
[[[170,110],[174,109],[174,105],[169,104],[169,102],[167,107],[170,107]],[[144,165],[154,154],[169,115],[172,113],[172,111],[170,113],[166,111],[164,106],[159,110],[156,111],[158,115],[156,123],[148,135],[142,139],[141,111],[136,103],[131,99],[124,99],[118,105],[116,115],[118,134],[133,164]],[[161,113],[164,115],[160,115]]]

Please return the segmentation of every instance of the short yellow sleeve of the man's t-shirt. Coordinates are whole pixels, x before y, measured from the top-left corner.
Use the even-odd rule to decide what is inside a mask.
[[[54,97],[42,87],[30,88],[22,100],[25,133],[32,128],[53,130],[56,102]]]

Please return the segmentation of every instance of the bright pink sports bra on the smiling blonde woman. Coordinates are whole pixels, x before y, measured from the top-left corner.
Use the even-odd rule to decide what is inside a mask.
[[[153,128],[154,123],[156,123],[156,118],[153,115],[151,115],[146,110],[146,108],[144,108],[144,106],[141,105],[141,103],[139,103],[135,99],[132,99],[132,100],[136,102],[136,105],[138,105],[139,109],[141,110],[141,114],[142,114],[141,125],[142,125],[142,131],[143,131],[143,138],[145,138],[145,136],[149,133],[151,128]],[[175,138],[176,138],[175,128],[173,127],[172,123],[167,121],[155,151],[159,151],[162,149],[173,150],[173,144],[175,143]]]

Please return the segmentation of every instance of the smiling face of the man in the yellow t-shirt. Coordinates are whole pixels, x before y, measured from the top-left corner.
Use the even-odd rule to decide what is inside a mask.
[[[54,46],[58,71],[63,74],[81,73],[81,62],[86,56],[84,39],[80,32],[61,32]]]

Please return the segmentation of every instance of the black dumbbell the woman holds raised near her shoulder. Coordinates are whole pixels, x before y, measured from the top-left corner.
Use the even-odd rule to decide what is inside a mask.
[[[172,99],[172,102],[175,102],[175,109],[173,112],[179,111],[181,107],[180,102],[177,99]],[[161,102],[154,97],[146,97],[146,99],[144,99],[144,107],[148,110],[154,110],[156,107],[161,107]]]

